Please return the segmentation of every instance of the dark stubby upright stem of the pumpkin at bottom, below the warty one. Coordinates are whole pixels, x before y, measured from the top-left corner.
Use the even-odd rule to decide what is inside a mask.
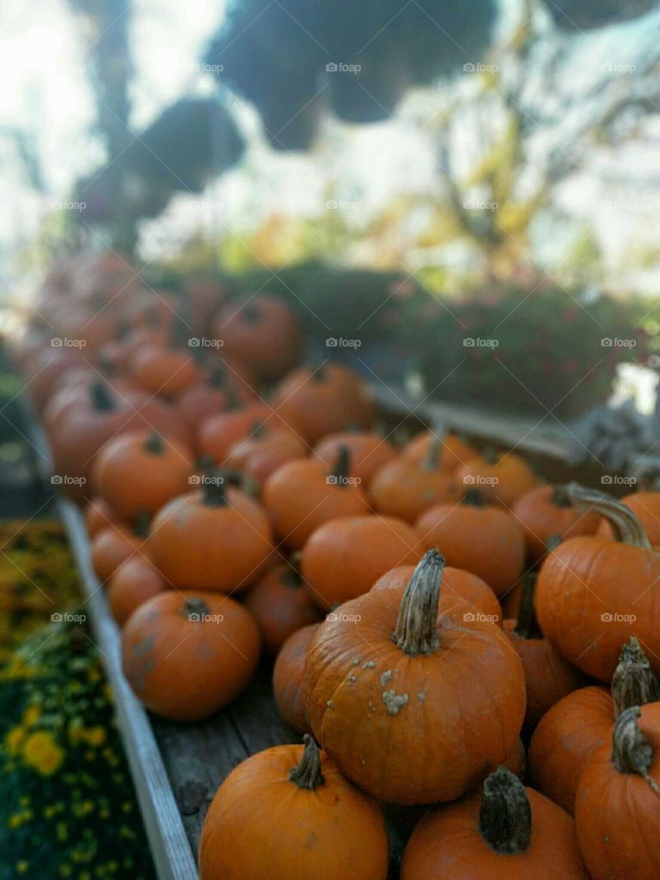
[[[499,766],[487,776],[479,811],[481,837],[502,855],[524,853],[532,837],[532,809],[523,783]]]

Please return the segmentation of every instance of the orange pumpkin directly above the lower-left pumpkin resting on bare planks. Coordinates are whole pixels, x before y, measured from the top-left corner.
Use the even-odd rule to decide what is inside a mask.
[[[211,474],[202,490],[172,498],[151,525],[150,553],[181,590],[243,590],[260,576],[272,530],[258,502]]]

